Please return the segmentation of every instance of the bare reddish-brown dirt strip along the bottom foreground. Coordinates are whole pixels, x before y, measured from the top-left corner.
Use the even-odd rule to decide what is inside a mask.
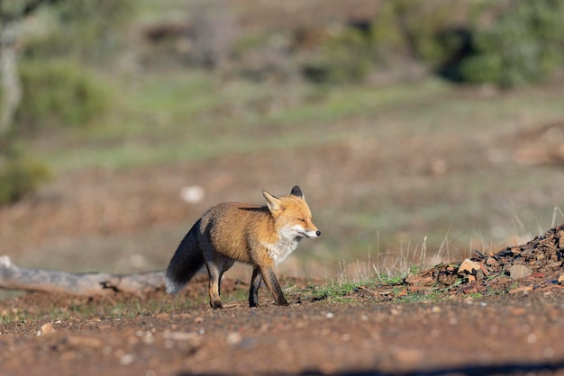
[[[341,303],[292,296],[287,308],[241,300],[15,322],[0,327],[2,374],[564,374],[560,287],[417,303],[374,291]]]

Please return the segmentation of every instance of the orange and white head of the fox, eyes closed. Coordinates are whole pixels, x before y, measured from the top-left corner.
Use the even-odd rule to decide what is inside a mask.
[[[312,222],[312,212],[300,187],[296,185],[287,196],[275,197],[267,191],[262,191],[262,195],[281,235],[294,238],[321,235]]]

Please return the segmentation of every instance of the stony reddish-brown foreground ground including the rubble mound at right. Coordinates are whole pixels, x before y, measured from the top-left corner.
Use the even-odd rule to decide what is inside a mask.
[[[257,309],[241,298],[218,310],[143,309],[201,301],[199,277],[178,298],[28,294],[0,302],[3,315],[25,307],[38,317],[0,326],[2,374],[564,374],[563,246],[564,227],[553,228],[522,246],[437,265],[396,285],[359,285],[339,299],[314,293],[319,281],[285,281],[294,286],[289,307],[274,306],[263,291]],[[223,292],[246,288],[226,280]],[[105,316],[108,302],[141,310]],[[49,314],[71,305],[102,314]]]

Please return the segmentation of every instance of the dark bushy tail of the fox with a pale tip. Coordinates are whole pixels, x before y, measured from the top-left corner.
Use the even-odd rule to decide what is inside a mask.
[[[176,294],[190,282],[192,277],[204,266],[204,254],[198,242],[200,220],[188,231],[172,256],[165,276],[165,284],[169,294]]]

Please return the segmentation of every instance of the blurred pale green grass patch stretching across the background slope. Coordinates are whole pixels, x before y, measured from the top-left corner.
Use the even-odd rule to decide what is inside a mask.
[[[56,170],[134,168],[328,144],[350,137],[347,129],[328,130],[328,123],[369,117],[447,87],[434,80],[378,90],[222,83],[201,71],[120,80],[121,111],[43,143],[45,160]]]

